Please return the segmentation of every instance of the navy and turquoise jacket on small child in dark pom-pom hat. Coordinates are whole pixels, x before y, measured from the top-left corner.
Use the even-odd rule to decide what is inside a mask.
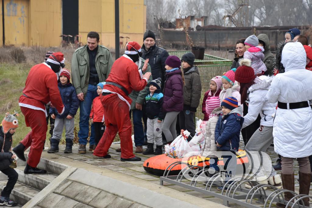
[[[148,94],[145,97],[145,112],[149,119],[158,117],[158,120],[162,121],[165,118],[166,113],[163,113],[163,93],[161,90],[156,90],[151,96]]]

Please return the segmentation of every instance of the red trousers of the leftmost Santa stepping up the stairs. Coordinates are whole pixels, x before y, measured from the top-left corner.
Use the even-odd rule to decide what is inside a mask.
[[[27,164],[31,167],[37,167],[40,162],[42,148],[46,140],[46,131],[48,126],[46,124],[46,115],[43,111],[34,110],[21,106],[21,111],[25,116],[26,126],[30,126],[30,131],[21,143],[25,146],[25,150],[30,148],[28,154]]]

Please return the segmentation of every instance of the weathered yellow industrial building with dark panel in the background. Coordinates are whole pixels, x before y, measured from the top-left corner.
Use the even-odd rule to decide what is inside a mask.
[[[4,0],[4,27],[0,10],[0,44],[59,47],[64,37],[90,31],[100,34],[100,44],[115,48],[115,0]],[[144,0],[119,0],[119,36],[143,42],[146,30]]]

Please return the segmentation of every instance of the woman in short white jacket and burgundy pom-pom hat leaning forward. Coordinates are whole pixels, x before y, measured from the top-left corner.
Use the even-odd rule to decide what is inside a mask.
[[[259,151],[266,152],[267,148],[273,142],[273,117],[275,113],[276,103],[269,103],[266,99],[266,93],[272,82],[272,77],[267,77],[261,74],[254,74],[254,69],[251,67],[251,60],[241,59],[240,67],[235,72],[235,80],[239,82],[241,88],[241,102],[248,104],[248,113],[244,116],[242,128],[251,125],[256,121],[258,115],[261,116],[260,126],[251,136],[245,146],[245,150],[251,154],[254,161],[254,173],[261,167],[257,173],[255,180],[261,184],[268,184],[281,188],[281,179],[272,167],[271,159],[268,155],[263,155],[263,163],[260,164]],[[269,180],[268,180],[269,179]],[[251,188],[249,184],[246,188]],[[266,187],[265,187],[266,189]]]

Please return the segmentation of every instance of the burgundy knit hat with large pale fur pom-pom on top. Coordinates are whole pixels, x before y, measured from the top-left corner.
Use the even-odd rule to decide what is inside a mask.
[[[249,83],[256,78],[255,71],[251,67],[251,60],[242,58],[235,72],[235,80],[240,83]]]

